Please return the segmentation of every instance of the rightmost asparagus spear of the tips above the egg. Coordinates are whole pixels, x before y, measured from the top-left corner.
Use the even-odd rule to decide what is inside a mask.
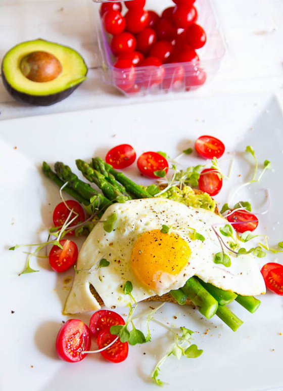
[[[132,194],[135,198],[151,198],[152,196],[143,187],[137,185],[129,178],[127,178],[122,172],[115,170],[111,164],[105,163],[100,157],[92,159],[92,165],[103,164],[104,169],[111,173],[114,178],[120,182],[126,189],[126,191]]]

